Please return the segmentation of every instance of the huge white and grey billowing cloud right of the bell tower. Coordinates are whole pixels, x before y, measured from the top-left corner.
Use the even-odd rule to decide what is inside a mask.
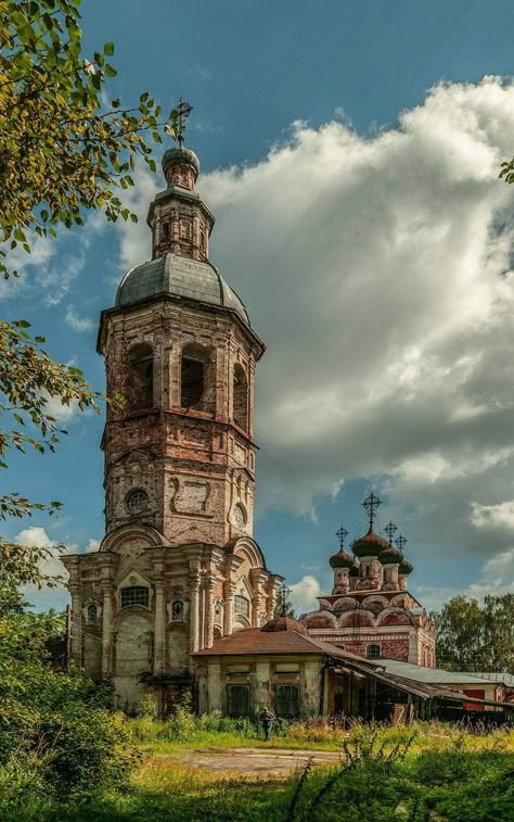
[[[513,134],[514,85],[487,77],[368,138],[294,124],[262,161],[200,178],[210,258],[268,345],[260,509],[311,514],[365,478],[409,511],[410,542],[484,561],[509,547],[470,505],[500,504],[514,468]],[[143,216],[158,184],[137,184]],[[147,258],[144,220],[120,231],[123,265]]]

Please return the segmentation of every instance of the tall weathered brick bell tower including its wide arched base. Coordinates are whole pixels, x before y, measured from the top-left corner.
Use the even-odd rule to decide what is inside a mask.
[[[63,560],[75,661],[112,680],[120,707],[153,688],[162,711],[193,685],[191,654],[270,619],[282,581],[253,539],[264,344],[209,261],[215,220],[181,143],[150,205],[152,260],[128,271],[100,320],[107,395],[124,397],[102,439],[106,535]]]

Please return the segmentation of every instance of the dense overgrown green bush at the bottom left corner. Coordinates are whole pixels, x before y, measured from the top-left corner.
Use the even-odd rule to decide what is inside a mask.
[[[2,820],[31,819],[48,802],[120,785],[134,759],[125,723],[108,710],[111,691],[80,671],[52,670],[50,630],[48,616],[0,618]]]

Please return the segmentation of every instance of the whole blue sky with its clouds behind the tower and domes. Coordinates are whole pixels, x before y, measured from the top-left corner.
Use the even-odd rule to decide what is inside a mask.
[[[82,17],[86,53],[116,43],[113,97],[194,106],[210,256],[268,343],[255,535],[298,607],[329,587],[334,532],[362,532],[371,488],[428,607],[509,590],[513,227],[496,175],[514,152],[512,3],[85,0]],[[162,179],[137,179],[144,215]],[[144,220],[90,217],[35,252],[3,315],[102,389],[98,316],[147,257]],[[4,530],[85,549],[103,532],[102,420],[67,425],[56,455],[13,459],[7,483],[63,501],[62,518]]]

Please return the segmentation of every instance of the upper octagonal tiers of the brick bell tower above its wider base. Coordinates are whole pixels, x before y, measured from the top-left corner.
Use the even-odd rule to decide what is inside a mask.
[[[151,203],[152,261],[102,313],[99,352],[110,409],[107,533],[143,519],[171,545],[223,546],[253,533],[254,379],[264,345],[208,258],[214,217],[195,191],[190,149],[163,159],[167,189]]]

